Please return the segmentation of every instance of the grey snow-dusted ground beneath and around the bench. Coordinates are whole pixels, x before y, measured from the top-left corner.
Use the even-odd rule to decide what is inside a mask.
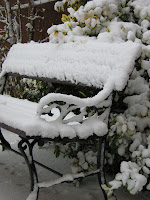
[[[18,136],[4,132],[11,146],[16,148]],[[35,159],[48,163],[50,167],[69,172],[69,161],[64,158],[55,159],[51,149],[35,149]],[[25,161],[22,157],[10,151],[1,151],[0,147],[0,200],[25,200],[29,194],[30,182]],[[40,181],[56,179],[57,176],[37,167]],[[150,192],[131,196],[124,190],[117,193],[118,200],[149,200]],[[79,188],[73,184],[61,184],[51,188],[41,189],[39,200],[104,200],[98,185],[97,176],[86,178]]]

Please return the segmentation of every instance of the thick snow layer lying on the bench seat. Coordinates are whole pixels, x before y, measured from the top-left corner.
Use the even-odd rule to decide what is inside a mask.
[[[0,122],[15,129],[25,132],[27,136],[41,136],[46,138],[79,137],[86,139],[96,134],[103,136],[107,133],[107,125],[100,119],[87,119],[82,124],[63,124],[57,120],[59,110],[54,108],[52,117],[39,118],[37,113],[38,103],[28,100],[0,95]],[[70,113],[71,114],[71,113]],[[69,116],[68,116],[69,117]]]

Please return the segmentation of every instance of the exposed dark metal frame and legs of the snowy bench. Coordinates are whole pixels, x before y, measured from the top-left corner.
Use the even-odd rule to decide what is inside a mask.
[[[52,83],[75,85],[75,84],[72,84],[71,82],[65,82],[65,81],[60,82],[56,79],[48,79],[48,78],[40,78],[40,77],[28,77],[26,75],[24,76],[24,75],[19,75],[19,74],[8,73],[8,74],[5,75],[5,81],[3,83],[3,88],[2,88],[2,94],[4,93],[4,89],[5,89],[5,86],[6,86],[6,81],[7,81],[8,76],[29,78],[29,79],[40,80],[40,81],[48,81],[48,82],[52,82]],[[84,87],[83,84],[81,84],[80,86]],[[45,141],[55,141],[55,142],[60,142],[62,144],[66,144],[66,143],[69,143],[69,142],[84,141],[84,139],[79,139],[78,137],[73,138],[73,139],[69,139],[69,138],[61,139],[60,137],[57,137],[55,139],[50,139],[50,138],[41,138],[39,136],[38,137],[29,137],[29,136],[26,136],[25,132],[18,130],[18,129],[15,129],[13,127],[10,127],[6,124],[0,123],[0,127],[19,135],[19,137],[21,138],[20,142],[18,143],[18,149],[20,150],[20,152],[18,152],[18,151],[15,151],[14,149],[11,148],[10,144],[6,141],[6,139],[4,138],[4,136],[3,136],[3,134],[0,130],[0,141],[1,141],[0,144],[2,145],[3,150],[5,150],[5,149],[11,150],[14,153],[17,153],[18,155],[24,157],[24,159],[27,163],[28,169],[29,169],[30,180],[31,180],[31,192],[35,189],[35,186],[39,182],[35,164],[38,164],[41,167],[44,167],[45,169],[57,174],[59,177],[63,176],[63,174],[61,174],[60,172],[53,170],[53,169],[43,165],[42,163],[39,163],[39,162],[34,160],[33,149],[34,149],[35,144],[38,143],[39,145],[42,145],[42,144],[45,143]],[[97,174],[98,180],[99,180],[99,185],[100,185],[102,192],[103,192],[103,195],[104,195],[104,199],[108,200],[109,197],[107,196],[107,191],[105,191],[102,187],[102,185],[106,184],[105,170],[104,170],[106,137],[107,137],[107,135],[105,135],[103,137],[102,136],[98,137],[98,136],[94,135],[94,136],[90,136],[88,138],[88,139],[92,138],[92,139],[98,139],[99,140],[99,149],[98,149],[98,156],[97,156],[97,169],[98,170],[96,170],[95,172],[93,172],[91,174],[84,174],[84,177]],[[29,157],[30,157],[30,159],[29,159]],[[78,178],[80,178],[80,177],[78,177]],[[66,182],[72,182],[72,181],[66,181]],[[38,193],[39,193],[39,187],[37,188],[37,199],[38,199]],[[116,199],[115,195],[113,195],[113,197],[114,197],[113,199]]]

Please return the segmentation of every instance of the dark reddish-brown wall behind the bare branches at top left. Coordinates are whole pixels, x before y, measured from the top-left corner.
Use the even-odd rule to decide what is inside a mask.
[[[13,9],[17,0],[9,0],[9,1]],[[25,5],[29,2],[29,0],[20,0],[20,2],[21,4]],[[36,19],[34,21],[34,29],[35,29],[34,36],[33,36],[34,41],[43,40],[44,38],[48,37],[47,29],[52,24],[61,23],[62,13],[58,13],[54,10],[55,2],[56,1],[54,0],[48,3],[42,3],[40,5],[35,6],[37,14],[43,17],[43,19]],[[0,0],[0,5],[4,6],[3,0]],[[23,33],[22,42],[24,43],[28,41],[28,31],[26,27],[26,24],[28,23],[28,19],[24,17],[24,16],[28,16],[28,7],[21,9],[21,15],[22,15],[21,22],[22,22],[22,33]],[[0,24],[0,27],[3,27],[2,23]]]

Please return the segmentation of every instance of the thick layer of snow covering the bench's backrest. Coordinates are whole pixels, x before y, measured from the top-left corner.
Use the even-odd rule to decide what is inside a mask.
[[[2,73],[56,78],[103,88],[111,82],[115,90],[127,84],[141,46],[133,42],[102,43],[89,39],[82,43],[15,44],[3,63]]]

